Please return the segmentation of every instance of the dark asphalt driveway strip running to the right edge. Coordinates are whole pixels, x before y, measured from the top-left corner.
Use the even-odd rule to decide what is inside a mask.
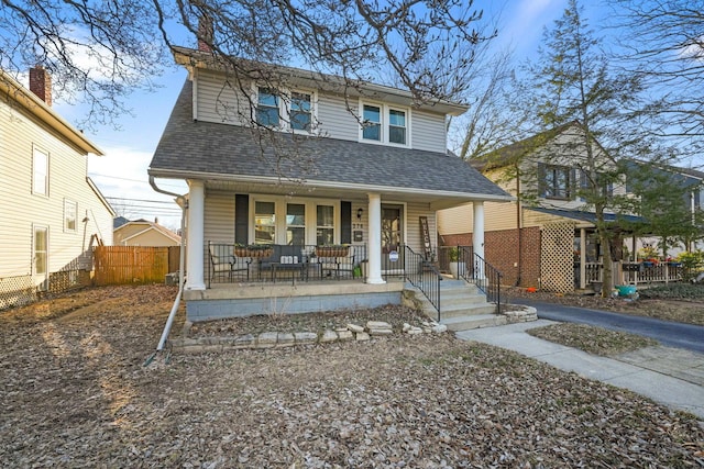
[[[538,317],[543,320],[590,324],[613,331],[629,332],[654,338],[662,345],[684,348],[704,354],[704,327],[691,324],[673,323],[652,317],[631,316],[608,311],[586,308],[565,306],[520,299],[519,303],[538,310]],[[703,312],[704,314],[704,312]]]

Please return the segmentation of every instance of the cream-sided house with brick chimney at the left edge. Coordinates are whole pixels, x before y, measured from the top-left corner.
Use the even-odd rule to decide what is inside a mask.
[[[52,110],[44,69],[30,89],[0,71],[0,308],[85,283],[91,246],[112,244],[114,211],[87,177],[102,152]]]

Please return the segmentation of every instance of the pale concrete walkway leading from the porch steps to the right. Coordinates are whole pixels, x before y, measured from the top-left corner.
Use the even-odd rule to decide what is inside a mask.
[[[556,322],[539,320],[477,328],[459,332],[457,336],[515,350],[556,368],[629,389],[704,421],[704,355],[669,347],[648,347],[606,358],[526,333],[548,324]]]

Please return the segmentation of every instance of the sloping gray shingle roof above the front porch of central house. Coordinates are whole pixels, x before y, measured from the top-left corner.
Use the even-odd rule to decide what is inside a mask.
[[[314,187],[318,181],[509,198],[470,165],[442,153],[196,122],[191,87],[186,80],[150,165],[153,176],[283,175]]]

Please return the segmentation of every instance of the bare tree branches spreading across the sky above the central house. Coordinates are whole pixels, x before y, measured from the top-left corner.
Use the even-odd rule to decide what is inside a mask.
[[[240,77],[266,72],[242,58],[346,86],[385,74],[421,103],[464,97],[474,51],[494,35],[484,30],[471,0],[0,0],[0,67],[43,65],[59,98],[89,104],[88,125],[114,123],[193,37]]]

